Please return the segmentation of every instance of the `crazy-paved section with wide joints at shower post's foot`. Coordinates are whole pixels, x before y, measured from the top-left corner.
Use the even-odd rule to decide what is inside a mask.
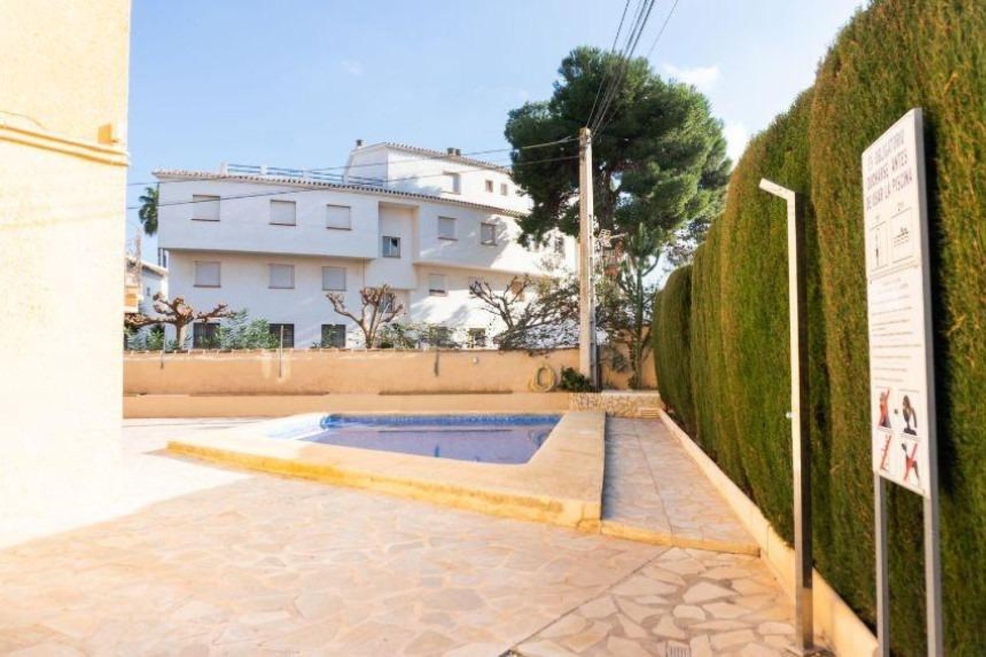
[[[793,614],[759,558],[665,548],[514,653],[780,657],[793,645]]]

